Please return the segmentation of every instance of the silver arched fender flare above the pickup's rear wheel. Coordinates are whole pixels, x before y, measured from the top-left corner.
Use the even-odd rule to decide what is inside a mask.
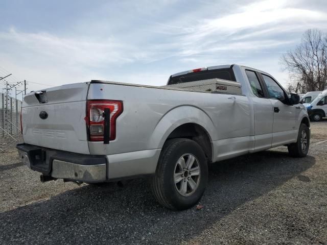
[[[215,140],[216,130],[212,119],[198,107],[185,105],[175,107],[161,117],[151,135],[148,149],[161,149],[171,132],[190,122],[200,125],[206,130],[210,140]]]

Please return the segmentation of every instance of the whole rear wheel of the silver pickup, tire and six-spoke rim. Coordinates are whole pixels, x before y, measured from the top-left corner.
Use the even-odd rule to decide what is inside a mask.
[[[207,175],[207,162],[200,145],[190,139],[172,139],[162,149],[151,189],[161,205],[187,209],[202,197]]]

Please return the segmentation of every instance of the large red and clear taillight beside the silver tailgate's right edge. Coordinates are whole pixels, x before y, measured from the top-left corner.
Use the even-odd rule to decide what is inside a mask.
[[[90,141],[104,140],[104,110],[110,110],[109,140],[116,138],[116,119],[123,112],[122,101],[91,100],[87,101],[87,118]]]

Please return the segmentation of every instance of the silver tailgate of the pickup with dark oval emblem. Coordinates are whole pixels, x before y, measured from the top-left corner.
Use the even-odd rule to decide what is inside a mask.
[[[89,154],[85,123],[88,83],[31,92],[22,104],[24,142]]]

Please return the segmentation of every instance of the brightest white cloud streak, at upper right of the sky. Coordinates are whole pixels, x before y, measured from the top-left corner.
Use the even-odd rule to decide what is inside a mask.
[[[217,40],[222,43],[224,40],[232,43],[233,39],[238,39],[238,32],[241,31],[246,32],[245,35],[252,40],[258,40],[258,35],[254,37],[252,32],[265,34],[261,35],[260,41],[265,40],[267,34],[277,35],[284,30],[304,31],[307,28],[317,28],[319,24],[325,27],[326,13],[290,8],[285,6],[286,3],[286,1],[267,0],[241,7],[235,13],[199,20],[198,24],[193,26],[193,30],[180,39],[184,46],[186,44],[185,53],[193,54],[188,50],[188,46],[192,45],[205,50],[205,44],[210,45]],[[243,38],[245,35],[243,34]],[[278,38],[283,39],[281,36]]]

